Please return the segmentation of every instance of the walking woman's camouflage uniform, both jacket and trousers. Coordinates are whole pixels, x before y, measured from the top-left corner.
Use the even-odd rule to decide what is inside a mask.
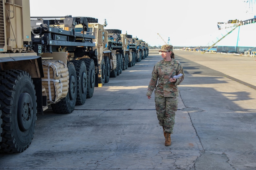
[[[169,50],[170,51],[170,50]],[[172,50],[171,50],[172,51]],[[174,75],[182,73],[182,77],[175,83],[170,83],[169,79]],[[152,71],[152,77],[148,86],[146,96],[151,96],[155,90],[155,109],[159,125],[164,126],[165,132],[173,133],[175,123],[175,112],[178,104],[178,87],[184,79],[183,68],[174,58],[170,62],[164,59],[157,62]]]

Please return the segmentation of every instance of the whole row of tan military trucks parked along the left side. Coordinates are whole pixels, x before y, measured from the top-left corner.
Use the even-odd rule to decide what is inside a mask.
[[[0,152],[25,151],[36,114],[72,113],[148,56],[145,41],[92,17],[31,17],[29,0],[0,1]]]

